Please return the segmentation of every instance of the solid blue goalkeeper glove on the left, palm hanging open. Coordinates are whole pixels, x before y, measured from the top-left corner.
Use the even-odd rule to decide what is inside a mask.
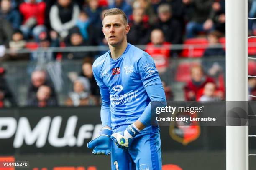
[[[87,143],[87,147],[93,148],[92,154],[94,155],[109,155],[111,148],[111,140],[110,135],[112,134],[112,130],[110,129],[102,129],[101,135],[94,140]]]

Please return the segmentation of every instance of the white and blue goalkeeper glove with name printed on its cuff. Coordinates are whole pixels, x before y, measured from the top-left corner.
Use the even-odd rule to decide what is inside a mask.
[[[134,124],[129,125],[124,131],[123,135],[120,133],[114,133],[111,135],[111,139],[115,139],[115,144],[123,150],[128,150],[131,146],[133,138],[140,132]]]

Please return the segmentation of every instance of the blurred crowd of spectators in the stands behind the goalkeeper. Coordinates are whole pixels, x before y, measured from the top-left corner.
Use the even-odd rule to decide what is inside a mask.
[[[44,65],[53,61],[81,60],[81,72],[70,76],[73,89],[67,106],[98,105],[100,92],[92,75],[92,62],[102,52],[54,52],[49,47],[83,47],[108,45],[102,33],[104,11],[117,7],[128,16],[131,30],[127,35],[133,45],[146,45],[159,74],[167,72],[170,58],[189,57],[187,50],[171,50],[171,45],[207,44],[196,57],[225,57],[225,0],[0,0],[0,62],[33,61],[30,67],[27,106],[56,106],[58,94]],[[249,17],[256,15],[256,0],[249,0]],[[253,20],[248,23],[249,35],[256,34]],[[198,38],[200,37],[200,38]],[[223,41],[224,40],[224,41]],[[23,49],[43,50],[20,53]],[[10,52],[5,53],[9,49]],[[1,64],[0,64],[1,66]],[[57,66],[56,66],[57,67]],[[184,65],[177,66],[184,69]],[[4,100],[16,106],[0,67],[0,107]],[[190,65],[184,86],[185,100],[225,100],[225,62],[202,61]],[[251,74],[254,75],[254,67]],[[179,77],[177,78],[179,79]],[[173,100],[172,88],[163,81],[167,100]],[[249,79],[249,92],[256,92],[256,81]],[[253,100],[253,99],[251,99]]]

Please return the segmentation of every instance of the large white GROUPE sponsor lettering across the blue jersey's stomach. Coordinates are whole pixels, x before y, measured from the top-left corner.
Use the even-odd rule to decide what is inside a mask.
[[[133,102],[135,100],[139,100],[138,98],[138,90],[134,92],[128,92],[124,95],[110,95],[110,101],[113,105],[120,105],[127,102]]]

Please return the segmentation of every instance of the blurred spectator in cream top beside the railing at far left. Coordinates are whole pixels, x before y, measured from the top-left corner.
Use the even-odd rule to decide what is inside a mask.
[[[25,48],[26,40],[23,38],[23,34],[20,30],[16,30],[13,33],[12,40],[9,42],[10,53],[7,56],[7,60],[28,60],[29,55],[27,53],[18,53],[19,50]]]

